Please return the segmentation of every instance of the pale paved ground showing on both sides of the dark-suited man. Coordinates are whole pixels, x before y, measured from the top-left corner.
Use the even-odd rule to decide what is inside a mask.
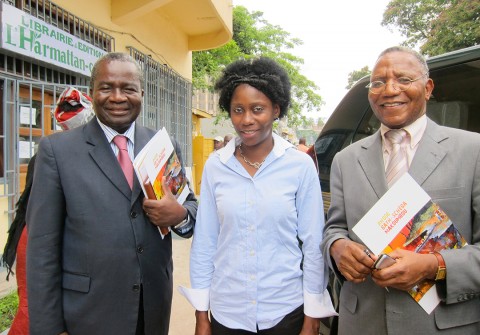
[[[177,287],[178,285],[190,286],[188,263],[192,240],[181,239],[175,234],[173,236],[174,290],[169,335],[190,335],[195,330],[195,311],[178,293]],[[7,282],[6,275],[5,268],[0,267],[0,298],[16,290],[15,277],[10,277]],[[7,332],[0,333],[0,335],[6,334]]]

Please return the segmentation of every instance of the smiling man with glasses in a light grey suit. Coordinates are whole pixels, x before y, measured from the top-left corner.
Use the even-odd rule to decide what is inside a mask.
[[[383,51],[368,94],[380,130],[334,158],[322,249],[344,280],[339,334],[480,334],[480,135],[427,118],[433,87],[417,52]],[[397,249],[390,253],[394,265],[372,271],[377,256],[365,253],[352,227],[388,189],[385,166],[391,151],[384,134],[390,129],[406,131],[408,173],[469,245],[438,254]],[[427,278],[436,280],[442,299],[430,315],[406,292]]]

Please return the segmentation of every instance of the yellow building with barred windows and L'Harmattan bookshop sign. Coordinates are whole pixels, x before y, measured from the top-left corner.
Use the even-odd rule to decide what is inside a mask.
[[[142,66],[137,122],[166,127],[192,166],[192,51],[232,37],[231,0],[0,0],[0,245],[42,136],[60,131],[53,111],[67,86],[88,92],[107,52]]]

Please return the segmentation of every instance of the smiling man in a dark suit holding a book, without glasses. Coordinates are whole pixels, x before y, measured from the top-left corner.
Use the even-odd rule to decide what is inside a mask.
[[[30,334],[167,335],[172,239],[158,227],[191,236],[197,202],[192,192],[183,206],[171,192],[145,200],[117,160],[115,136],[127,138],[133,159],[155,134],[135,123],[143,97],[135,60],[103,56],[91,93],[96,118],[40,142],[26,220]]]

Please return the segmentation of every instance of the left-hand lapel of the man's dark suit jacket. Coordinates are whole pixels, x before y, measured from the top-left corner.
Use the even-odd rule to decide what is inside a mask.
[[[130,199],[132,196],[130,186],[96,118],[85,127],[85,137],[86,142],[92,146],[90,156],[99,169],[125,197]]]

